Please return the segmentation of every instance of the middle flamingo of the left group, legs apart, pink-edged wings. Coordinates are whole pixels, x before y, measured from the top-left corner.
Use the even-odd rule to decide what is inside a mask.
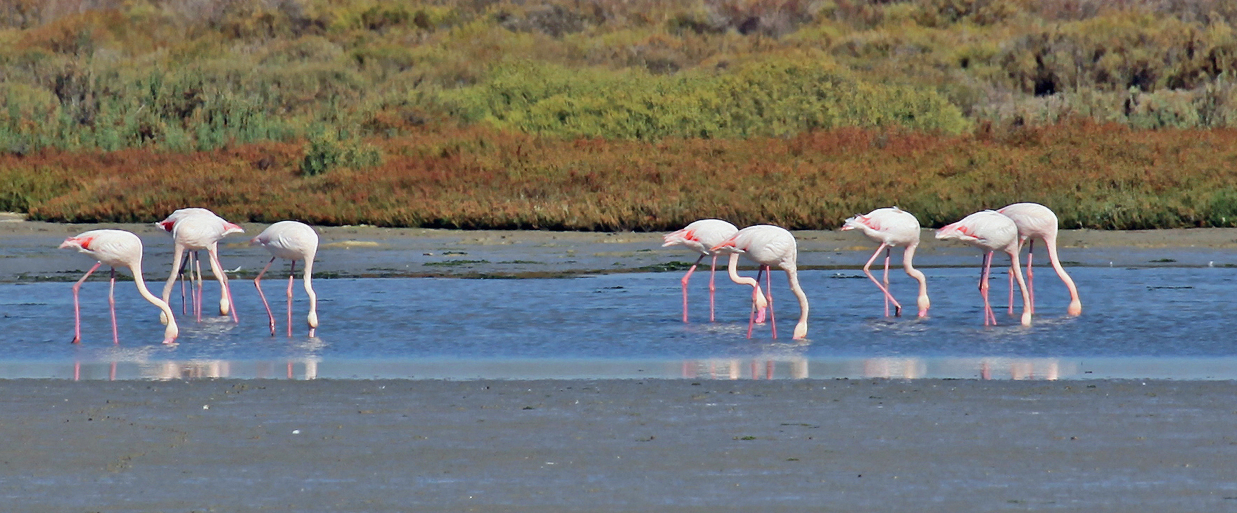
[[[219,315],[228,315],[231,313],[233,320],[239,321],[236,318],[236,310],[231,308],[231,288],[228,286],[228,274],[224,273],[223,265],[219,263],[219,240],[229,234],[242,234],[245,232],[239,225],[228,223],[223,218],[210,213],[207,209],[181,209],[167,219],[157,224],[160,227],[167,230],[171,226],[172,239],[174,241],[174,250],[172,253],[172,274],[167,277],[167,283],[163,284],[163,302],[166,303],[172,295],[172,286],[176,283],[177,276],[181,273],[181,256],[186,251],[190,251],[197,255],[200,250],[207,250],[209,256],[210,272],[215,274],[215,279],[219,281]],[[198,272],[198,299],[197,300],[197,318],[202,320],[202,272]],[[165,319],[161,319],[165,320]]]

